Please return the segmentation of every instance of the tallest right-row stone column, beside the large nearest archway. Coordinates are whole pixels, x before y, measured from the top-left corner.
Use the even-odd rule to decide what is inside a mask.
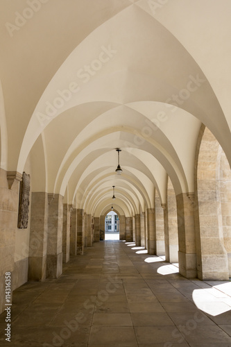
[[[179,271],[186,278],[196,278],[194,195],[179,194],[176,196],[176,201],[178,209]]]

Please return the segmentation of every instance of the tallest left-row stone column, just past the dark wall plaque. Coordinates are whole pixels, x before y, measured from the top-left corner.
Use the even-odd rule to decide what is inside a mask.
[[[46,277],[58,278],[62,273],[62,199],[60,194],[48,194],[49,217]]]

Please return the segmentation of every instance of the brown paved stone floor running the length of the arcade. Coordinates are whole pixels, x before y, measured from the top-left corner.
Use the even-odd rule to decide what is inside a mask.
[[[231,283],[177,271],[135,244],[96,243],[58,280],[14,291],[11,342],[1,314],[0,346],[231,347]]]

